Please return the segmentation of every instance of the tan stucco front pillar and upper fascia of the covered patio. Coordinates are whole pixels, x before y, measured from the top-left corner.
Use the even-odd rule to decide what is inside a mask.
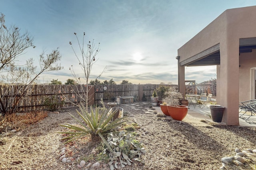
[[[256,37],[256,6],[226,10],[195,37],[178,49],[180,62],[220,44],[220,67],[217,68],[217,100],[226,107],[223,122],[239,125],[239,39]],[[241,72],[242,70],[240,70]],[[181,75],[184,77],[183,75]],[[180,78],[180,91],[185,89]],[[237,105],[236,105],[237,104]]]

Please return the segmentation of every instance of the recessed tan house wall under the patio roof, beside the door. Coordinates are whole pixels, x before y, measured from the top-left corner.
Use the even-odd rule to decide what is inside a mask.
[[[251,100],[251,68],[256,68],[256,49],[239,57],[239,102]]]

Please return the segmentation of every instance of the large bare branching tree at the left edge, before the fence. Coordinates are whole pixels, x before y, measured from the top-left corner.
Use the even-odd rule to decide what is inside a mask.
[[[33,59],[26,61],[23,66],[18,66],[17,61],[20,55],[28,47],[35,47],[32,42],[33,39],[30,34],[26,31],[24,34],[20,33],[20,29],[14,25],[7,28],[4,25],[4,15],[0,16],[0,72],[1,77],[8,83],[12,88],[14,83],[19,83],[18,90],[15,90],[15,94],[12,94],[12,99],[3,103],[3,96],[7,94],[5,92],[0,96],[0,111],[3,115],[12,113],[16,109],[19,101],[28,92],[28,87],[38,78],[43,72],[51,70],[60,70],[62,67],[57,64],[61,59],[60,52],[58,49],[53,50],[52,53],[45,55],[43,52],[39,57],[40,69],[37,72],[36,66],[34,66]],[[4,73],[6,72],[6,73]],[[12,89],[11,89],[12,90]],[[14,91],[14,90],[12,90]]]

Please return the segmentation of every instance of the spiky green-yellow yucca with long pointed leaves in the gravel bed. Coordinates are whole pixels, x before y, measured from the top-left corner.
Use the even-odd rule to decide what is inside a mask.
[[[108,133],[111,129],[121,126],[122,123],[126,122],[126,117],[117,118],[114,121],[111,121],[114,115],[117,113],[117,109],[110,112],[110,109],[105,110],[103,113],[99,112],[99,108],[96,107],[95,109],[90,107],[90,112],[88,112],[84,106],[79,106],[80,111],[76,110],[80,118],[82,120],[70,115],[80,124],[80,126],[71,125],[68,123],[64,123],[64,125],[59,124],[60,126],[67,127],[68,129],[72,129],[74,131],[67,131],[67,132],[58,132],[69,134],[71,136],[65,137],[62,140],[69,139],[65,143],[69,143],[75,139],[83,137],[85,135],[99,135],[102,141],[108,146],[106,139],[102,136],[105,133]],[[108,146],[109,147],[109,146]],[[112,149],[111,149],[112,150]]]

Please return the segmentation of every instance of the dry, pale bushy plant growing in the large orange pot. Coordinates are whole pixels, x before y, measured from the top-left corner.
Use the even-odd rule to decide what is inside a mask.
[[[171,106],[179,105],[180,100],[183,99],[182,94],[180,92],[177,92],[175,87],[170,87],[165,94],[166,97],[164,98],[163,102],[166,102],[168,105]]]

